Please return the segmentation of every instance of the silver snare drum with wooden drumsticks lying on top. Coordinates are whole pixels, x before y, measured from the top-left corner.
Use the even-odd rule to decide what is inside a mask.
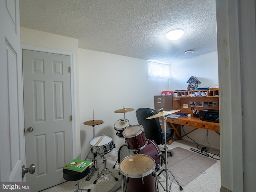
[[[98,136],[98,137],[94,137],[92,138],[92,140],[90,141],[90,146],[91,146],[91,152],[92,154],[98,154],[98,155],[103,155],[103,154],[107,154],[110,151],[112,151],[112,149],[115,147],[114,146],[114,142],[112,140],[112,137],[105,135],[102,140],[99,142],[99,144],[97,146],[95,146],[95,144],[98,142],[98,140],[101,138],[102,136]]]

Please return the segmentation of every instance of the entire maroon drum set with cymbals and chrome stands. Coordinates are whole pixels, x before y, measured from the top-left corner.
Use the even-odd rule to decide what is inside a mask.
[[[159,191],[158,176],[162,172],[165,172],[166,173],[165,191],[169,192],[170,186],[168,183],[168,178],[169,178],[168,174],[169,173],[172,174],[172,172],[167,168],[168,145],[166,144],[166,132],[165,132],[165,146],[164,146],[166,167],[165,169],[162,169],[163,156],[158,145],[153,140],[149,140],[146,138],[143,126],[139,124],[132,126],[130,125],[130,121],[125,118],[125,113],[131,112],[133,110],[134,109],[132,108],[123,108],[115,111],[115,113],[124,113],[124,118],[119,119],[115,122],[114,129],[116,130],[116,135],[119,138],[124,138],[125,143],[122,146],[120,146],[118,150],[118,159],[116,160],[116,163],[118,162],[119,164],[119,174],[122,175],[122,183],[118,182],[116,186],[114,186],[114,188],[117,190],[119,187],[122,186],[124,192],[140,192],[140,191],[158,192]],[[177,111],[178,110],[172,110],[172,111],[166,112],[162,110],[158,114],[150,116],[147,119],[158,118],[163,116],[164,129],[166,131],[165,120],[167,118],[165,116],[168,114],[175,113]],[[93,124],[92,122],[90,123],[88,122],[87,123],[84,122],[84,124],[87,124],[87,125]],[[95,122],[94,122],[94,125],[96,125]],[[106,176],[109,173],[111,173],[111,175],[116,179],[116,181],[118,180],[118,178],[116,178],[114,174],[106,167],[105,154],[112,151],[114,147],[115,145],[112,138],[105,134],[102,136],[94,137],[90,141],[91,153],[94,154],[93,162],[96,161],[97,168],[98,168],[96,157],[100,156],[105,165],[101,173],[99,174],[98,172],[98,177],[94,181],[94,184],[96,184],[97,180],[100,178],[100,175]],[[115,168],[115,165],[113,168]],[[93,169],[92,171],[96,170],[96,168],[95,167],[93,168],[93,166],[92,166],[92,169]],[[157,174],[157,172],[159,171],[160,173]],[[93,172],[90,171],[89,176],[91,176],[92,173]],[[173,176],[173,180],[176,180],[173,174],[172,176]],[[180,186],[178,180],[176,180],[176,182]],[[112,191],[115,191],[113,189]],[[180,190],[182,190],[181,186],[180,186]]]

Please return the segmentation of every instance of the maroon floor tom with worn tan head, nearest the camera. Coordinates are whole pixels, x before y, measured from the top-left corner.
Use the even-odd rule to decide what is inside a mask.
[[[156,192],[155,161],[144,154],[131,155],[119,164],[124,192]]]

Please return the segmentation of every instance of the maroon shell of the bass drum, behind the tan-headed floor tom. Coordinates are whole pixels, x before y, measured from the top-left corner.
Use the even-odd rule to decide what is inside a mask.
[[[146,139],[148,144],[141,150],[134,151],[134,154],[144,154],[152,157],[156,162],[156,169],[163,165],[163,156],[156,142]]]

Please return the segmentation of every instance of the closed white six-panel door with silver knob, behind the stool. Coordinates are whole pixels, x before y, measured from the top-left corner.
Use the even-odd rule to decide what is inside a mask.
[[[22,50],[22,60],[26,164],[36,165],[27,181],[40,191],[64,182],[73,158],[70,56]]]

